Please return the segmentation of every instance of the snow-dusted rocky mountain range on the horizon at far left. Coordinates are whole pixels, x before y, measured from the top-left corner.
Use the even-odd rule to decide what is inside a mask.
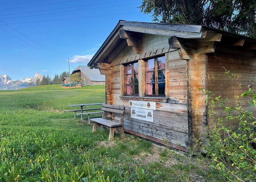
[[[32,86],[35,86],[37,79],[41,81],[43,76],[36,73],[34,78],[26,77],[23,80],[12,80],[10,76],[3,75],[0,76],[0,90],[18,90],[20,88],[29,87],[29,83],[31,83]]]

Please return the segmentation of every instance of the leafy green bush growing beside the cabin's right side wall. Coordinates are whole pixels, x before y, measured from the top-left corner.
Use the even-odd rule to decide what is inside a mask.
[[[236,79],[238,74],[225,72],[230,79]],[[247,90],[241,98],[247,97],[251,110],[241,106],[240,96],[234,98],[231,104],[221,95],[214,97],[211,91],[200,88],[209,101],[210,117],[216,117],[214,128],[208,132],[207,145],[204,149],[211,158],[211,165],[220,171],[230,181],[255,181],[256,180],[256,90],[255,82],[245,85],[236,79],[240,86]],[[211,101],[211,104],[210,104]],[[214,112],[215,104],[225,107],[226,117],[217,117]],[[228,124],[227,124],[228,123]],[[232,123],[232,124],[231,124]],[[234,124],[235,123],[235,124]]]

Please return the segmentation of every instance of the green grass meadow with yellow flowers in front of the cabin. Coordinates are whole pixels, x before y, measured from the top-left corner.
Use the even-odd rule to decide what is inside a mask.
[[[200,155],[189,157],[74,119],[68,104],[105,102],[105,86],[0,91],[0,181],[223,181]],[[143,169],[143,170],[142,170]]]

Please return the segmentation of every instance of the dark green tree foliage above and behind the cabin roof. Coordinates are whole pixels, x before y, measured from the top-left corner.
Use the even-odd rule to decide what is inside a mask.
[[[207,25],[256,37],[256,0],[142,0],[139,8],[156,22]]]

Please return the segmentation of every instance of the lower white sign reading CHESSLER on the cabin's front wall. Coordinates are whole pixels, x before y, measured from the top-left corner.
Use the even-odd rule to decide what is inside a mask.
[[[153,122],[153,110],[131,107],[131,118]]]

